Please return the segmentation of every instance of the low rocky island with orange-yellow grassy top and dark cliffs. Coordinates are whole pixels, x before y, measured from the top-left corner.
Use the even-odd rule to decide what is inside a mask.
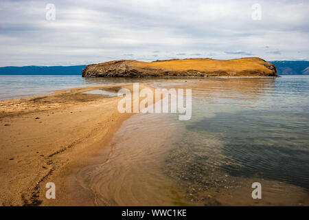
[[[214,60],[190,58],[142,62],[109,61],[87,65],[82,77],[214,77],[214,76],[277,76],[275,65],[261,58]]]

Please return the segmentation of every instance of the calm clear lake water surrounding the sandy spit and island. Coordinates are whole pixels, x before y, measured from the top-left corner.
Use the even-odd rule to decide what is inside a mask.
[[[192,89],[192,119],[138,113],[79,181],[104,205],[308,205],[309,76],[124,79],[0,76],[0,98],[151,83]],[[253,200],[251,184],[262,184]]]

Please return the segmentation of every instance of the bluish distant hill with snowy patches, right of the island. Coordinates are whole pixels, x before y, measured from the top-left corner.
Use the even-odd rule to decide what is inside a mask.
[[[269,61],[278,75],[309,75],[309,61]]]

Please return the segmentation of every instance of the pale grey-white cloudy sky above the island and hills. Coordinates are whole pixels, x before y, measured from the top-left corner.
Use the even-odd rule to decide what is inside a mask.
[[[308,14],[308,0],[1,0],[0,66],[309,60]]]

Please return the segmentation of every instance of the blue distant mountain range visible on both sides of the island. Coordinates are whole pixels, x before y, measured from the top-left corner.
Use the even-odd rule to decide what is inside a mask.
[[[309,61],[268,61],[278,75],[309,75]],[[0,67],[0,75],[81,75],[86,65]]]

